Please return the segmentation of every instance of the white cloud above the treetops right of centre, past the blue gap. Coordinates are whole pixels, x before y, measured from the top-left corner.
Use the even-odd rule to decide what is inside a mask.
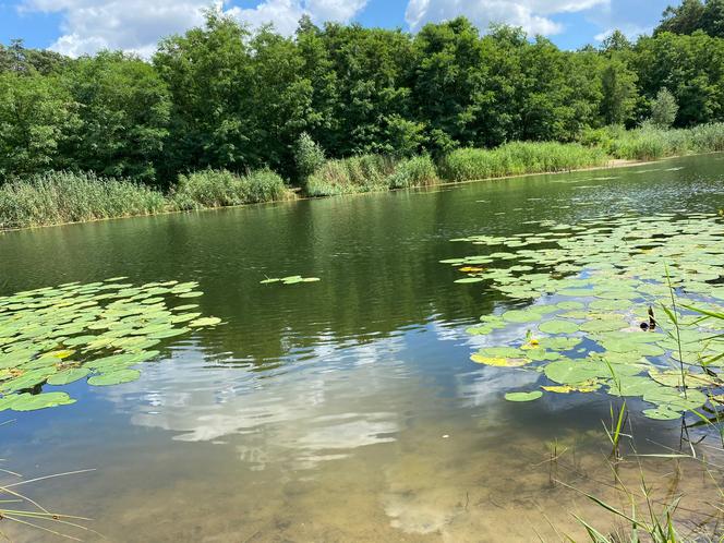
[[[552,35],[563,26],[551,15],[608,5],[611,0],[410,0],[405,19],[413,31],[426,23],[464,15],[481,29],[491,23],[521,26],[529,34]]]

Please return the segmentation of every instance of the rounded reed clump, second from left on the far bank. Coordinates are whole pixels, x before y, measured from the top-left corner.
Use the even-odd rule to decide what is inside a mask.
[[[283,180],[272,170],[238,176],[227,170],[195,171],[179,176],[170,194],[176,209],[201,209],[282,200],[288,195]]]

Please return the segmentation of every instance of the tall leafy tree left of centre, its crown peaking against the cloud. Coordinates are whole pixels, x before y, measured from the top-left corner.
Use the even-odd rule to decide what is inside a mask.
[[[203,27],[161,40],[153,62],[172,102],[165,178],[190,167],[261,165],[249,39],[236,20],[209,10]]]

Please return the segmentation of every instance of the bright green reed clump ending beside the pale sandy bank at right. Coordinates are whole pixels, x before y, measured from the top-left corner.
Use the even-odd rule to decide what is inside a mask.
[[[496,149],[454,150],[443,158],[439,171],[446,181],[468,181],[602,166],[607,159],[601,149],[580,144],[509,143]]]

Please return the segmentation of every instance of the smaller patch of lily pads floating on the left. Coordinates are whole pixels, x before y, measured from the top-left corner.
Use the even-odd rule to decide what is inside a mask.
[[[196,281],[134,286],[125,277],[69,282],[0,297],[0,411],[34,411],[74,403],[47,390],[85,381],[130,383],[155,348],[221,319],[203,316],[186,299],[203,295]]]

